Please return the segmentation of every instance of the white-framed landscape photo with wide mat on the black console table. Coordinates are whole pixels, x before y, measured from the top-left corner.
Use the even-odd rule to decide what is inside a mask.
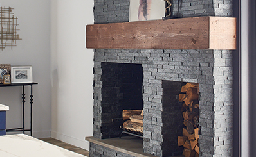
[[[12,83],[32,83],[32,66],[12,67]]]

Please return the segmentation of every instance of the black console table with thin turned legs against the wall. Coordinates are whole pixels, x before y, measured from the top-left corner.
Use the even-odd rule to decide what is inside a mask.
[[[23,88],[22,95],[22,104],[23,104],[23,127],[20,128],[12,128],[6,129],[6,132],[16,132],[16,131],[30,131],[30,136],[32,136],[32,104],[33,104],[33,85],[37,85],[38,83],[12,83],[12,84],[0,84],[0,87],[14,87],[14,86],[21,86]],[[30,86],[30,129],[25,129],[25,86]]]

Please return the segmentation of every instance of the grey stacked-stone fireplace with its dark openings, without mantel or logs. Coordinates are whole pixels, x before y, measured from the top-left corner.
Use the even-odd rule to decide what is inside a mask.
[[[174,0],[172,10],[176,17],[232,16],[232,1]],[[96,24],[127,22],[129,0],[95,0],[94,13]],[[122,110],[143,110],[143,152],[178,155],[182,119],[173,89],[199,83],[199,156],[233,156],[232,60],[229,50],[95,49],[93,137],[118,137]],[[134,155],[90,141],[90,156]]]

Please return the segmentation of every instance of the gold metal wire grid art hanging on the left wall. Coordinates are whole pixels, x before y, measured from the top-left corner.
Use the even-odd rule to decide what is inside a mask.
[[[0,34],[0,49],[6,47],[16,46],[16,40],[21,40],[19,34],[17,34],[18,17],[14,17],[12,12],[14,8],[11,7],[0,7],[0,23],[1,23],[1,34]]]

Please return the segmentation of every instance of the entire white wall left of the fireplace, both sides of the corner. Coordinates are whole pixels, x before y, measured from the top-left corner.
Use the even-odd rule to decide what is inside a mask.
[[[93,0],[1,0],[1,6],[15,8],[22,40],[12,50],[0,50],[0,63],[32,65],[33,81],[39,83],[33,88],[33,136],[89,149],[93,50],[85,48],[85,26],[93,24]],[[6,127],[20,127],[21,87],[1,87],[0,103],[10,106]],[[26,122],[28,127],[28,117]]]

